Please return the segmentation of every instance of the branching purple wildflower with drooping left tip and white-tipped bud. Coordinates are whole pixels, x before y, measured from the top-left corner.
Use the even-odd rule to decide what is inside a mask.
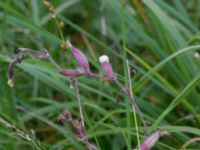
[[[79,89],[78,89],[77,78],[80,76],[85,76],[85,77],[88,77],[89,79],[98,78],[100,80],[106,79],[108,81],[112,81],[119,88],[119,90],[130,99],[132,106],[138,112],[138,114],[142,120],[145,133],[147,134],[148,133],[147,125],[144,120],[143,114],[142,114],[140,108],[138,107],[134,97],[131,96],[129,91],[127,91],[118,82],[117,77],[115,76],[115,73],[113,72],[112,66],[109,62],[109,57],[106,55],[102,55],[99,57],[99,61],[102,66],[102,70],[104,72],[104,75],[102,76],[102,75],[91,72],[89,61],[87,60],[87,57],[83,54],[83,52],[78,50],[76,47],[72,46],[72,44],[69,41],[67,42],[67,46],[71,49],[72,55],[74,56],[74,58],[76,59],[76,61],[79,64],[79,66],[74,69],[62,69],[56,63],[56,61],[54,61],[54,59],[50,56],[50,54],[48,53],[47,50],[37,51],[37,50],[32,50],[30,48],[19,48],[18,53],[13,55],[12,61],[8,67],[8,73],[7,73],[8,74],[8,84],[11,87],[13,87],[13,85],[14,85],[13,84],[13,76],[14,76],[13,66],[15,64],[21,63],[21,61],[23,61],[28,56],[28,53],[31,53],[36,59],[45,59],[45,60],[50,61],[57,68],[58,72],[61,75],[69,76],[71,78],[72,85],[75,89],[76,96],[77,96],[77,101],[78,101],[78,106],[79,106],[79,111],[80,111],[80,118],[81,118],[81,126],[85,131],[86,129],[85,129],[85,124],[84,124],[84,117],[83,117],[83,111],[82,111],[82,106],[81,106],[81,101],[80,101],[80,94],[79,94]],[[60,120],[62,120],[61,116],[60,116]],[[84,134],[85,134],[85,132],[84,132]],[[86,140],[86,141],[88,141],[88,140]],[[88,149],[89,149],[89,147],[88,147]]]

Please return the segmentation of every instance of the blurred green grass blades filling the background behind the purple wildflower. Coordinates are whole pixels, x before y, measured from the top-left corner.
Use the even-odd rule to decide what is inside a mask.
[[[53,5],[58,23],[65,24],[64,39],[86,54],[92,71],[101,72],[97,58],[106,54],[119,81],[127,86],[127,60],[135,68],[132,92],[150,131],[159,128],[170,133],[155,149],[180,149],[200,136],[200,58],[194,57],[200,48],[198,1],[57,0]],[[0,2],[0,119],[4,120],[0,149],[85,149],[73,138],[71,127],[57,121],[64,109],[80,118],[68,77],[49,62],[29,57],[15,66],[14,88],[7,85],[6,71],[17,47],[46,48],[63,68],[77,66],[70,51],[60,48],[62,41],[42,1]],[[117,87],[81,77],[79,88],[89,141],[102,150],[136,148],[134,122],[141,130],[142,123],[139,116],[134,121],[126,97],[121,94],[116,103]],[[5,121],[31,137],[31,142]],[[144,138],[140,133],[139,142]],[[186,148],[199,149],[200,144]]]

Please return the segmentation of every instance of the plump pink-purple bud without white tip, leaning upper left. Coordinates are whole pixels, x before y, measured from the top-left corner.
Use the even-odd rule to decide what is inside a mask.
[[[75,59],[78,61],[79,65],[86,71],[90,72],[89,62],[86,56],[77,48],[72,47],[72,54],[74,55]]]

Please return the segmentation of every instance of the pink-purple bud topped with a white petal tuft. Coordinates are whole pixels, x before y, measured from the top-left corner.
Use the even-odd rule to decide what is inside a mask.
[[[101,66],[103,68],[105,75],[108,78],[115,80],[116,77],[113,73],[112,66],[109,63],[109,57],[106,56],[106,55],[102,55],[102,56],[99,57],[99,62],[101,63]]]

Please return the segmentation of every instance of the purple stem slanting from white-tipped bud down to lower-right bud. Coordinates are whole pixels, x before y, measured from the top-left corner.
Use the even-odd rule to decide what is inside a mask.
[[[121,92],[124,93],[130,99],[132,106],[138,112],[138,114],[140,116],[140,119],[141,119],[142,124],[144,126],[145,133],[148,134],[148,127],[147,127],[146,122],[144,120],[142,111],[140,110],[140,108],[138,107],[138,105],[135,101],[134,96],[131,97],[131,95],[127,92],[127,90],[117,80],[113,80],[113,82],[118,86],[118,88],[121,90]]]

